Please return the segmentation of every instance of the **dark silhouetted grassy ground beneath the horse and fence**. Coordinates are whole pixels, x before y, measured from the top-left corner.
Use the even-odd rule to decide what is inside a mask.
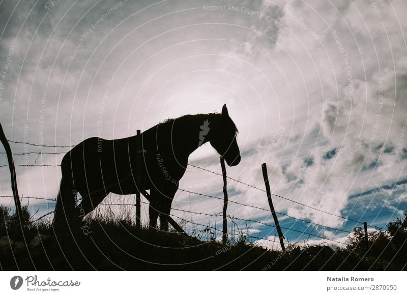
[[[405,270],[407,213],[386,230],[369,233],[366,252],[363,231],[355,228],[346,248],[287,246],[285,252],[261,248],[245,231],[226,246],[208,230],[192,237],[136,229],[131,215],[109,212],[86,217],[82,225],[55,236],[49,221],[24,228],[15,213],[0,206],[0,268],[2,270]],[[23,208],[25,224],[30,215]],[[236,236],[233,236],[236,238]],[[24,243],[25,240],[25,243]]]

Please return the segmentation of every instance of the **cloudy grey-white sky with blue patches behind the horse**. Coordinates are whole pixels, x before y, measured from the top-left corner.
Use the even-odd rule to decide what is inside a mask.
[[[401,0],[1,1],[0,123],[8,139],[66,146],[226,104],[242,155],[228,176],[264,190],[266,162],[273,194],[289,199],[273,196],[286,242],[343,246],[349,233],[332,228],[366,221],[371,231],[406,210],[406,8]],[[61,153],[14,156],[51,165],[16,170],[22,204],[35,217],[52,211],[52,202],[24,197],[56,197],[69,148],[11,147]],[[220,173],[218,157],[207,144],[189,163]],[[8,167],[0,172],[0,195],[10,196]],[[223,196],[219,175],[192,166],[180,188]],[[229,200],[252,206],[229,203],[229,227],[278,248],[270,211],[253,208],[269,209],[258,189],[228,180]],[[172,206],[222,212],[221,200],[185,191]],[[221,229],[220,216],[171,214]]]

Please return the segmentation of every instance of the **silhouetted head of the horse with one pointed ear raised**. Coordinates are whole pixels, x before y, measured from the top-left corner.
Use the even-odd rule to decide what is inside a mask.
[[[226,160],[228,166],[235,166],[240,162],[240,151],[236,135],[238,129],[229,117],[226,104],[217,120],[211,123],[209,142],[212,147]]]

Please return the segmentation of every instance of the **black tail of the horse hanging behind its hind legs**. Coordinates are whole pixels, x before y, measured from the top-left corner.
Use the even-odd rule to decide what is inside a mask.
[[[73,226],[75,219],[78,218],[76,213],[76,193],[73,184],[62,178],[60,191],[56,197],[54,218],[52,226],[57,231],[68,230]]]

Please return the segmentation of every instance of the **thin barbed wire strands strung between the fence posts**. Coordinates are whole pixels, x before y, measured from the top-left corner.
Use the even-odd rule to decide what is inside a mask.
[[[11,143],[15,143],[15,144],[24,144],[24,145],[37,146],[37,147],[45,147],[45,148],[51,148],[51,147],[52,147],[52,148],[54,148],[54,149],[74,147],[74,145],[62,145],[62,146],[57,146],[57,145],[40,145],[40,144],[34,144],[34,143],[29,143],[29,142],[20,142],[20,141],[12,141],[12,140],[8,140],[8,141],[11,142]],[[57,155],[57,154],[66,154],[66,153],[67,153],[67,152],[56,152],[56,151],[55,151],[55,152],[43,152],[43,151],[37,151],[37,152],[12,153],[12,155],[42,155],[42,154]],[[6,153],[5,153],[5,152],[0,152],[0,154],[6,154]],[[0,167],[5,167],[5,166],[8,166],[8,164],[6,164],[6,165],[0,165]],[[35,163],[35,164],[15,164],[15,166],[58,167],[58,166],[61,166],[61,165],[38,164],[38,163]],[[202,168],[202,167],[199,167],[199,166],[197,166],[197,165],[188,164],[188,166],[197,168],[197,169],[199,169],[199,170],[207,171],[207,172],[212,173],[212,174],[215,174],[215,175],[222,176],[221,173],[217,173],[217,172],[215,172],[215,171],[212,171],[212,170],[209,170],[209,169],[206,169],[206,168]],[[233,181],[233,182],[236,182],[236,183],[238,183],[238,184],[241,184],[241,185],[243,185],[244,187],[252,188],[252,189],[255,189],[255,190],[257,190],[257,191],[266,193],[266,190],[261,189],[261,188],[259,188],[259,187],[256,187],[256,186],[254,186],[254,185],[251,185],[251,184],[242,182],[242,181],[240,181],[240,180],[234,179],[234,178],[232,178],[232,177],[230,177],[230,176],[227,176],[227,175],[226,175],[226,178],[227,178],[228,180],[231,180],[231,181]],[[196,195],[196,196],[203,196],[203,197],[207,197],[207,198],[223,200],[222,197],[218,197],[218,196],[214,196],[214,195],[209,195],[209,194],[200,193],[200,192],[194,192],[194,191],[186,190],[186,189],[182,189],[182,188],[179,188],[178,190],[179,190],[179,191],[182,191],[182,192],[189,193],[189,194],[193,194],[193,195]],[[365,226],[367,225],[367,226],[369,226],[369,227],[373,227],[373,226],[371,226],[371,225],[366,224],[366,222],[361,222],[361,221],[357,221],[357,220],[354,220],[354,219],[351,219],[351,218],[348,218],[348,217],[345,217],[345,216],[341,216],[341,215],[329,213],[329,212],[327,212],[327,211],[323,211],[323,210],[321,210],[321,209],[317,209],[317,208],[315,208],[315,207],[313,207],[313,206],[310,206],[310,205],[301,203],[301,202],[299,202],[299,201],[290,199],[290,198],[288,198],[288,197],[284,197],[284,196],[281,196],[281,195],[278,195],[278,194],[275,194],[275,193],[271,193],[271,195],[272,195],[272,196],[275,196],[275,197],[278,197],[278,198],[281,198],[281,199],[284,199],[284,200],[287,200],[287,201],[289,201],[289,202],[293,202],[293,203],[298,204],[298,205],[300,205],[300,206],[304,206],[305,208],[308,208],[308,209],[311,209],[311,210],[314,210],[314,211],[317,211],[317,212],[321,212],[321,213],[326,214],[326,215],[330,215],[330,216],[333,216],[333,217],[336,217],[336,218],[340,218],[340,219],[343,219],[343,220],[345,220],[345,221],[354,222],[354,223],[356,223],[356,225],[361,224],[361,225],[365,225]],[[0,195],[0,197],[2,197],[2,198],[13,198],[12,195]],[[26,199],[46,200],[46,201],[47,201],[47,204],[48,204],[48,203],[55,203],[55,202],[56,202],[56,199],[55,199],[55,198],[46,198],[46,197],[38,197],[38,196],[22,196],[22,197],[20,197],[20,198],[21,198],[21,199],[26,198]],[[238,201],[235,201],[235,200],[228,200],[228,202],[234,203],[234,204],[237,204],[237,205],[240,205],[240,206],[243,206],[243,207],[247,207],[247,208],[250,208],[250,209],[264,211],[265,213],[268,214],[267,217],[270,216],[270,209],[261,208],[261,207],[256,206],[256,205],[246,204],[246,203],[238,202]],[[144,201],[142,201],[142,203],[148,204],[148,202],[144,202]],[[135,206],[135,203],[100,203],[100,204],[101,204],[101,205],[109,205],[109,206],[112,206],[112,205],[115,205],[115,206]],[[219,236],[216,235],[216,232],[222,233],[222,230],[216,227],[216,223],[215,223],[215,226],[213,226],[213,225],[210,225],[210,223],[207,223],[207,225],[205,225],[205,224],[202,224],[202,223],[197,223],[197,222],[194,222],[194,221],[189,221],[189,220],[187,220],[187,219],[185,219],[185,218],[183,218],[183,217],[177,216],[176,214],[173,213],[173,211],[182,212],[182,213],[185,213],[185,214],[203,215],[203,216],[207,216],[207,217],[211,217],[211,218],[216,218],[216,217],[220,217],[220,218],[221,218],[221,217],[222,217],[222,214],[201,213],[201,212],[194,212],[194,211],[189,211],[189,210],[183,210],[183,209],[180,209],[180,208],[171,208],[171,216],[173,216],[173,217],[175,217],[175,218],[177,218],[177,219],[179,219],[179,220],[181,220],[181,221],[183,221],[183,222],[185,222],[185,223],[190,223],[191,225],[195,225],[195,226],[199,226],[199,227],[204,227],[204,230],[210,230],[210,229],[212,229],[213,231],[215,231],[215,232],[212,232],[215,237],[219,237]],[[38,222],[38,221],[40,221],[40,220],[42,220],[42,219],[44,219],[44,218],[47,218],[47,217],[49,217],[49,216],[50,216],[51,214],[53,214],[53,213],[54,213],[54,211],[51,211],[51,212],[49,212],[49,213],[47,213],[47,214],[45,214],[45,215],[43,215],[43,216],[37,218],[37,219],[34,220],[34,221],[30,221],[29,224],[32,224],[32,223]],[[284,216],[284,217],[286,217],[286,218],[293,219],[294,221],[300,221],[300,222],[302,222],[302,223],[309,224],[309,226],[312,225],[312,226],[313,226],[312,231],[313,231],[316,227],[318,227],[318,228],[321,228],[321,229],[329,229],[329,230],[331,230],[331,231],[334,231],[334,234],[336,234],[337,232],[342,232],[342,233],[346,233],[346,234],[351,234],[351,233],[352,233],[352,231],[349,231],[349,230],[346,230],[346,229],[341,229],[341,228],[336,228],[336,227],[331,227],[331,226],[322,225],[322,224],[319,224],[319,223],[315,223],[315,222],[313,222],[313,221],[309,221],[309,220],[305,220],[305,219],[301,219],[301,218],[296,218],[296,217],[293,217],[293,216],[288,215],[288,214],[286,214],[286,213],[277,212],[277,211],[275,211],[275,213],[278,214],[278,215]],[[244,218],[235,217],[235,216],[230,216],[230,215],[227,215],[227,217],[228,217],[229,220],[231,220],[233,223],[236,223],[235,221],[241,221],[241,222],[245,223],[246,225],[247,225],[247,223],[249,223],[250,225],[252,225],[252,224],[254,223],[254,224],[256,224],[256,225],[260,225],[260,226],[263,225],[263,226],[270,227],[269,229],[271,229],[271,230],[269,231],[269,233],[271,233],[271,232],[273,231],[273,229],[276,228],[276,225],[272,225],[272,224],[270,224],[270,223],[265,222],[265,219],[259,221],[259,220],[254,220],[254,219],[244,219]],[[267,219],[266,219],[266,220],[267,220]],[[308,227],[309,227],[309,226],[308,226]],[[310,236],[313,236],[314,238],[322,239],[322,240],[329,241],[329,242],[332,242],[332,243],[335,243],[335,244],[348,245],[348,244],[345,243],[345,242],[340,242],[340,241],[334,240],[334,239],[332,239],[332,238],[327,238],[325,235],[319,235],[319,234],[316,234],[316,233],[312,233],[312,231],[311,231],[311,232],[303,231],[303,230],[295,229],[295,228],[293,228],[293,227],[289,227],[289,228],[288,228],[288,227],[283,227],[283,226],[279,226],[279,227],[280,227],[281,229],[284,229],[284,230],[285,230],[285,233],[289,233],[290,231],[293,231],[293,232],[301,233],[301,235],[308,235],[308,238],[309,238]],[[251,234],[249,233],[248,229],[246,229],[246,230],[247,230],[247,232],[244,234],[244,236],[246,236],[247,238],[250,238],[250,239],[252,239],[252,240],[257,240],[257,241],[263,240],[263,241],[266,241],[266,242],[272,242],[273,244],[274,244],[274,243],[279,243],[278,241],[275,241],[275,240],[270,239],[270,236],[272,236],[272,235],[267,235],[267,236],[264,236],[264,237],[254,236],[254,235],[251,235]],[[221,235],[220,235],[220,236],[221,236]],[[274,235],[274,236],[275,236],[275,235]]]

